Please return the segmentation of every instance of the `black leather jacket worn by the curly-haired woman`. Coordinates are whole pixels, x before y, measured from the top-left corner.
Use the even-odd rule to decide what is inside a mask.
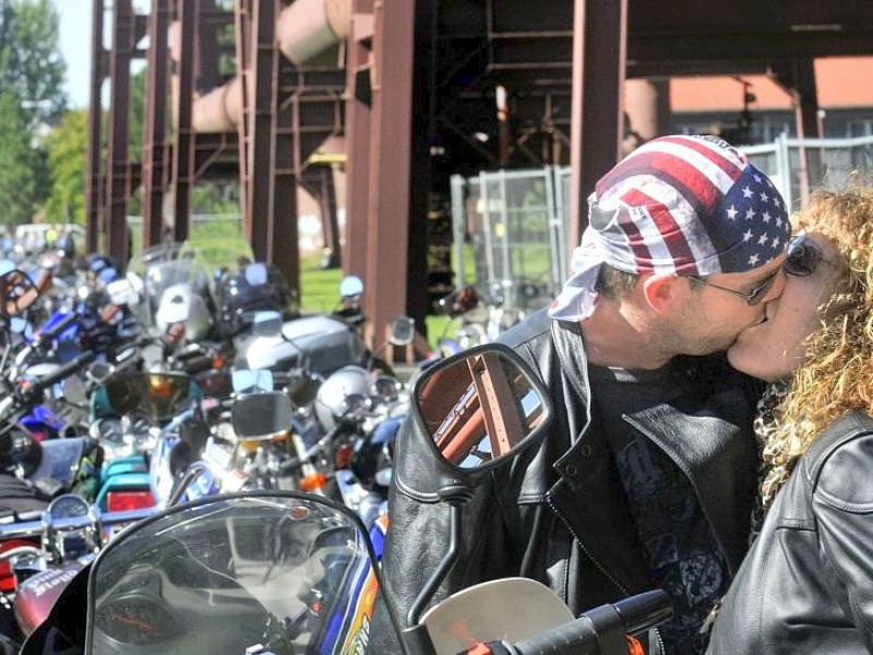
[[[873,420],[824,430],[767,513],[707,653],[873,653]]]

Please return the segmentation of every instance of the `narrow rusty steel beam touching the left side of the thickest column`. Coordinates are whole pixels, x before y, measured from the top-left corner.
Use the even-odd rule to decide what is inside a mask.
[[[343,271],[367,276],[373,0],[352,0],[346,61],[346,225]]]

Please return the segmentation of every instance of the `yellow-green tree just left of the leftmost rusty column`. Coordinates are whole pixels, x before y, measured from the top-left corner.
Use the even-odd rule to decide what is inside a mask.
[[[49,222],[85,222],[85,153],[88,112],[68,111],[45,141],[50,190],[43,205]]]

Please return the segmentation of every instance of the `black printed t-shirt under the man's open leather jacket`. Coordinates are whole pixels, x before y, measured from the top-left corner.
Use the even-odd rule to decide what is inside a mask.
[[[673,619],[660,628],[668,653],[703,653],[698,632],[727,591],[727,563],[685,474],[623,415],[693,393],[679,366],[636,371],[589,366],[591,397],[612,448],[651,577],[673,603]],[[682,436],[677,436],[682,438]]]

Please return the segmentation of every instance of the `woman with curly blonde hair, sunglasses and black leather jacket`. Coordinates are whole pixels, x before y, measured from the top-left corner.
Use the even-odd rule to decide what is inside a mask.
[[[772,382],[760,507],[711,654],[873,653],[873,187],[817,191],[728,357]]]

